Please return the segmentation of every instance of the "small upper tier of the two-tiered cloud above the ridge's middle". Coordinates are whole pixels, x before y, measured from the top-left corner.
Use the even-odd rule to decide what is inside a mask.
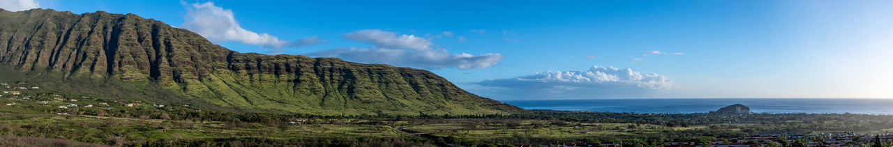
[[[430,39],[424,37],[415,37],[413,35],[396,36],[394,32],[381,31],[380,29],[358,30],[345,34],[344,38],[382,48],[430,50],[430,46],[434,45]]]

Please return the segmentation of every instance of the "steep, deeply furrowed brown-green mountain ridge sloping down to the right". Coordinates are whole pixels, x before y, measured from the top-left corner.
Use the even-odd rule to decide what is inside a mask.
[[[497,114],[520,108],[423,69],[238,53],[135,14],[0,10],[0,80],[46,91],[217,110]]]

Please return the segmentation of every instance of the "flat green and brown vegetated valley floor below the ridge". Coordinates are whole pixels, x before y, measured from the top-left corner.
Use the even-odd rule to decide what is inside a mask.
[[[672,141],[730,140],[742,135],[884,134],[893,129],[893,116],[862,114],[525,110],[505,115],[320,116],[236,113],[38,91],[2,94],[0,136],[24,138],[19,139],[22,142],[63,139],[56,141],[127,146],[445,146],[454,143],[483,146],[601,142],[654,146]],[[59,107],[72,103],[78,106]]]

